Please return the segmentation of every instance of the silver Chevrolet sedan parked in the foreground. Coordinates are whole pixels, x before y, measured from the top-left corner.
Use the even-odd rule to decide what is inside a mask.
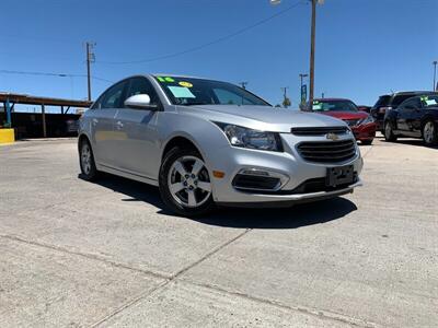
[[[362,159],[345,122],[207,79],[114,84],[82,116],[78,147],[84,179],[106,172],[159,186],[182,215],[215,204],[287,207],[361,185]]]

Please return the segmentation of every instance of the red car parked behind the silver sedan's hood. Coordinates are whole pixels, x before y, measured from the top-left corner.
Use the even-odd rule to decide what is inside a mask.
[[[318,98],[313,101],[311,110],[328,115],[332,117],[344,120],[355,133],[356,140],[359,140],[362,144],[371,144],[376,137],[377,125],[366,112],[359,110],[359,108],[349,99],[343,98]]]

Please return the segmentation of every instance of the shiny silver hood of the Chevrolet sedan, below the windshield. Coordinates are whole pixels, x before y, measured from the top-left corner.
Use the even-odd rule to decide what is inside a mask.
[[[336,118],[324,115],[269,106],[197,105],[177,106],[177,110],[212,121],[273,132],[290,132],[290,129],[296,127],[338,127],[345,125]]]

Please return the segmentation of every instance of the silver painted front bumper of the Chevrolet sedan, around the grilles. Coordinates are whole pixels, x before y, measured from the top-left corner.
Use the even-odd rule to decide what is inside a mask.
[[[351,139],[351,136],[343,137]],[[353,192],[355,187],[361,186],[358,178],[362,169],[362,159],[356,147],[356,155],[346,162],[336,164],[311,163],[304,161],[295,145],[301,141],[326,141],[325,137],[297,137],[289,133],[281,134],[285,152],[256,151],[233,148],[231,145],[215,149],[206,154],[208,167],[212,171],[224,172],[223,178],[216,178],[210,173],[214,199],[224,206],[252,206],[260,203],[262,207],[290,206],[303,201],[315,201]],[[325,178],[327,168],[353,165],[357,179],[342,189],[296,194],[293,192],[303,183],[310,179]],[[256,168],[286,176],[281,187],[276,192],[260,190],[239,190],[232,186],[237,174],[242,169]]]

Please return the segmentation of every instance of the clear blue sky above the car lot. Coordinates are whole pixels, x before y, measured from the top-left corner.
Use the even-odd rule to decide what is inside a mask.
[[[129,65],[205,45],[297,7],[223,42],[182,56]],[[83,42],[96,43],[92,73],[117,81],[141,72],[200,75],[247,89],[276,104],[289,86],[299,102],[309,70],[306,0],[2,0],[0,91],[87,97]],[[429,90],[438,60],[438,0],[326,0],[318,8],[315,95],[372,105],[391,90]],[[93,98],[108,86],[93,80]]]

